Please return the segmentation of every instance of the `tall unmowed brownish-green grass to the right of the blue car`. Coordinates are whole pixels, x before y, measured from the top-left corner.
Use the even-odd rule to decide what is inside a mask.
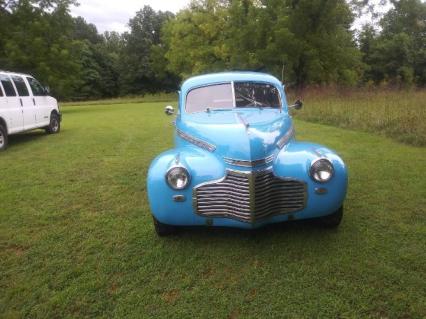
[[[426,146],[426,90],[309,90],[297,118]]]

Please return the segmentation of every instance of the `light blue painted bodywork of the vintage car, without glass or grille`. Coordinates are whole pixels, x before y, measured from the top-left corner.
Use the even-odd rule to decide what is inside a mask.
[[[232,81],[264,82],[274,85],[281,95],[281,109],[247,108],[188,114],[185,99],[196,87]],[[248,128],[243,123],[248,123]],[[276,78],[253,72],[218,73],[193,77],[182,85],[179,97],[179,112],[176,127],[200,140],[216,146],[209,152],[189,143],[175,132],[175,148],[157,156],[148,171],[147,188],[152,214],[160,222],[170,225],[229,226],[257,228],[265,224],[286,221],[288,214],[275,215],[254,223],[230,218],[213,219],[197,215],[192,202],[193,188],[204,182],[219,180],[227,169],[250,171],[272,169],[274,175],[293,178],[306,183],[306,207],[292,213],[294,219],[326,216],[335,212],[343,203],[347,190],[347,170],[342,159],[332,150],[312,143],[297,142],[294,137],[277,147],[278,140],[292,128],[288,114],[285,92]],[[273,155],[271,163],[255,168],[227,164],[224,157],[238,160],[258,160]],[[318,183],[309,176],[310,163],[319,158],[329,159],[334,166],[334,176],[327,183]],[[184,166],[191,175],[190,185],[184,190],[171,189],[165,179],[168,169],[176,162]],[[325,194],[317,194],[315,188],[324,187]],[[184,195],[186,200],[176,202],[174,195]]]

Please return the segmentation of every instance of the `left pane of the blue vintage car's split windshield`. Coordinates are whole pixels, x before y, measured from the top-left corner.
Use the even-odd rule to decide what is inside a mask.
[[[232,85],[217,84],[196,88],[190,91],[186,97],[186,111],[188,113],[202,112],[210,109],[232,109]]]

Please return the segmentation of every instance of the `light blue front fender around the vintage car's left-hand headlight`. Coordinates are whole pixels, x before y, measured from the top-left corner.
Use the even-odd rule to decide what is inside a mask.
[[[183,190],[172,189],[166,181],[166,172],[175,165],[184,166],[191,179]],[[194,186],[225,176],[222,160],[214,154],[189,145],[166,151],[151,163],[147,177],[148,199],[151,212],[157,220],[169,225],[203,225],[205,218],[195,214],[192,206]],[[184,201],[173,196],[183,195]]]

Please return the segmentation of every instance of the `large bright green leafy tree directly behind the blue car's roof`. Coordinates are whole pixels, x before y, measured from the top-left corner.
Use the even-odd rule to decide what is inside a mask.
[[[360,55],[343,0],[193,2],[165,28],[173,72],[258,69],[297,86],[354,84]]]

